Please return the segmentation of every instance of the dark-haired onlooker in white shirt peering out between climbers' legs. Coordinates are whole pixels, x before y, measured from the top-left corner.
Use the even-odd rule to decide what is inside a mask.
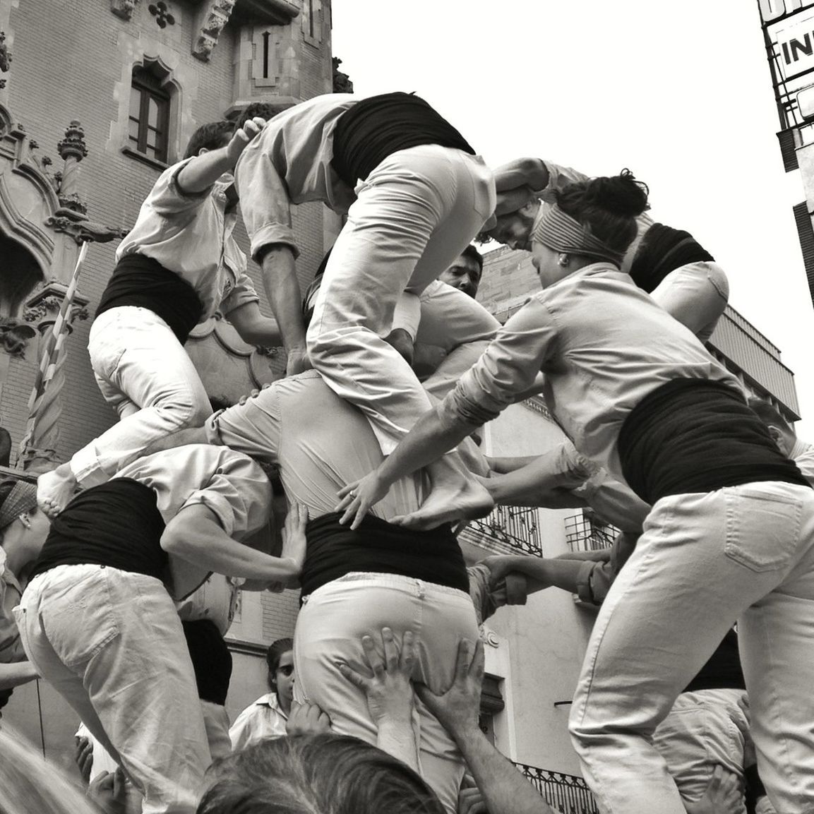
[[[261,695],[234,720],[229,730],[234,751],[286,734],[294,697],[294,641],[287,638],[272,642],[265,663],[271,692]]]

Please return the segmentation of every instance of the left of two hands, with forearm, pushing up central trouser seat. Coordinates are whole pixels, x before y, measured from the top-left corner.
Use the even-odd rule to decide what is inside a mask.
[[[339,672],[367,698],[370,717],[376,724],[376,746],[418,772],[418,746],[413,732],[414,691],[410,684],[417,641],[405,631],[401,649],[390,628],[382,628],[383,657],[370,636],[363,636],[362,648],[372,676],[363,676],[346,663]]]

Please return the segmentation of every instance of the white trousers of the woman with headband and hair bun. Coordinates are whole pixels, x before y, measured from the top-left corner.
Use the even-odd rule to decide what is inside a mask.
[[[570,720],[602,812],[684,814],[651,736],[736,620],[760,777],[814,811],[814,492],[771,482],[663,497],[611,586]]]

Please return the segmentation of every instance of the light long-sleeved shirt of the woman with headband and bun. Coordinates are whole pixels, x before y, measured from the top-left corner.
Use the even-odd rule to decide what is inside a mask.
[[[540,372],[546,405],[576,449],[623,483],[616,440],[650,392],[672,379],[743,392],[691,331],[609,263],[584,266],[534,295],[462,376],[442,414],[486,422]]]

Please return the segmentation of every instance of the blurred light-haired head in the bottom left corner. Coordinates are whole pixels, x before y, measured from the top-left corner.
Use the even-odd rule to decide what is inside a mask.
[[[18,733],[0,729],[0,812],[98,814],[85,795]]]

